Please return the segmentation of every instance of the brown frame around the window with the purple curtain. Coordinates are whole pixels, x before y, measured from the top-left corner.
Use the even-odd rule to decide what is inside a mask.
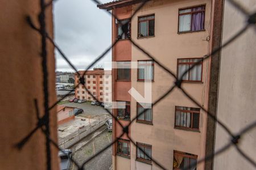
[[[204,10],[200,10],[200,11],[192,11],[192,8],[196,8],[196,7],[204,7]],[[197,5],[197,6],[191,6],[191,7],[185,7],[185,8],[179,8],[178,10],[178,24],[177,24],[177,32],[178,33],[185,33],[185,32],[199,32],[199,31],[205,31],[205,7],[206,4],[202,4],[202,5]],[[187,10],[187,9],[191,9],[191,12],[185,12],[183,14],[180,14],[181,10]],[[197,30],[197,31],[192,31],[192,22],[193,22],[193,14],[195,13],[199,13],[199,12],[204,12],[204,25],[203,25],[203,29],[201,30]],[[191,14],[191,25],[190,25],[190,31],[179,31],[179,24],[180,24],[180,15],[188,15]]]

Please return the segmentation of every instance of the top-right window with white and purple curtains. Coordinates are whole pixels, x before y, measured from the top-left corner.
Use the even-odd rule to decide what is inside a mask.
[[[179,32],[204,30],[205,5],[179,10]]]

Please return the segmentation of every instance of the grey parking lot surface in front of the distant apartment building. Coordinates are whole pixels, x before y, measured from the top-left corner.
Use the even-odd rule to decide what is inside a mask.
[[[76,107],[84,109],[84,113],[79,114],[79,116],[86,117],[86,118],[93,118],[102,116],[104,114],[108,114],[108,112],[105,111],[103,107],[97,106],[97,105],[91,105],[90,102],[85,103],[66,103],[64,104],[69,107]]]

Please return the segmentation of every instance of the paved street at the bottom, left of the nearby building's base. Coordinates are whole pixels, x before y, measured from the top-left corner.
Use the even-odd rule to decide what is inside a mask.
[[[103,131],[101,133],[101,131]],[[105,146],[109,145],[112,141],[112,133],[109,133],[105,126],[98,130],[100,132],[99,135],[96,137],[86,137],[83,139],[81,143],[86,143],[84,146],[73,146],[71,149],[73,151],[73,159],[79,165],[85,162],[85,160],[89,159],[91,156],[96,154],[98,151],[102,150]],[[96,132],[97,133],[97,132]],[[89,141],[88,141],[89,140]],[[84,169],[99,169],[99,170],[109,170],[110,166],[112,165],[112,147],[109,147],[107,150],[103,151],[100,155],[96,156],[88,163],[84,165]],[[70,169],[75,170],[77,169],[75,164],[71,164]]]

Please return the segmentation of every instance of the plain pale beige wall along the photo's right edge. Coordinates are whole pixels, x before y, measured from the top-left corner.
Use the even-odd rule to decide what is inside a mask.
[[[256,10],[254,0],[238,1],[250,12]],[[225,1],[222,43],[246,24],[243,14]],[[233,133],[256,120],[256,34],[250,28],[221,52],[217,118]],[[230,142],[229,135],[216,128],[215,150]],[[243,135],[238,146],[255,161],[256,130]],[[214,169],[255,169],[234,147],[214,158]]]

